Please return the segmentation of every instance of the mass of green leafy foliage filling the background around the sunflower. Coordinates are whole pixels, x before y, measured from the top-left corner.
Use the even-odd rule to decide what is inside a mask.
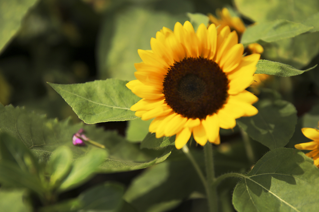
[[[207,211],[195,169],[129,110],[125,84],[163,26],[196,29],[225,6],[258,23],[241,42],[263,46],[256,73],[273,77],[249,88],[259,113],[220,131],[215,172],[237,178],[217,178],[219,209],[316,212],[318,168],[293,146],[319,121],[317,0],[0,0],[0,211]],[[105,148],[74,146],[81,128]]]

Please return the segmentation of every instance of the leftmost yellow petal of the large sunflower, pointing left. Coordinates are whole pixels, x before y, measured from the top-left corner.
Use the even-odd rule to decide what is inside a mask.
[[[135,95],[141,98],[159,99],[164,96],[163,89],[144,85],[139,80],[129,81],[126,83],[126,87],[128,87]]]

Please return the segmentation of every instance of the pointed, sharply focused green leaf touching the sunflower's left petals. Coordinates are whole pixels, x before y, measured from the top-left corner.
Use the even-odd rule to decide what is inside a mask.
[[[87,124],[126,121],[137,118],[130,107],[140,98],[118,79],[96,80],[79,84],[49,83]]]

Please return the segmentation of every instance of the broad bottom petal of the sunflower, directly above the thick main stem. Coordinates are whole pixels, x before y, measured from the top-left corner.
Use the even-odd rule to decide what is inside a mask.
[[[214,143],[219,135],[219,117],[217,114],[212,116],[207,116],[205,120],[202,121],[208,141]]]

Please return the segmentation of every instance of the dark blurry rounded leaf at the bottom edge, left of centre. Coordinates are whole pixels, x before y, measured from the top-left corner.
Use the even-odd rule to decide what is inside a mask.
[[[81,211],[117,212],[122,204],[124,187],[118,183],[106,182],[103,185],[92,187],[78,196],[83,204]]]

